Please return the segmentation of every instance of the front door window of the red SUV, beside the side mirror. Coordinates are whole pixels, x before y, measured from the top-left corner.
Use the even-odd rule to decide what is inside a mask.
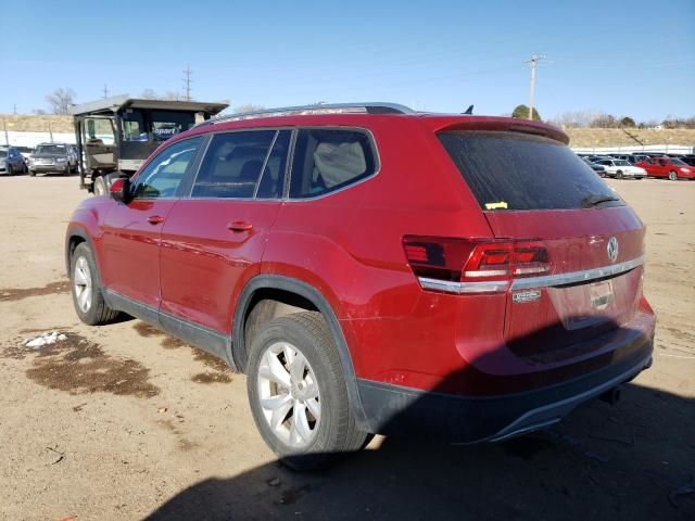
[[[162,199],[176,196],[186,173],[190,168],[201,138],[174,143],[157,154],[138,175],[135,181],[136,199]]]

